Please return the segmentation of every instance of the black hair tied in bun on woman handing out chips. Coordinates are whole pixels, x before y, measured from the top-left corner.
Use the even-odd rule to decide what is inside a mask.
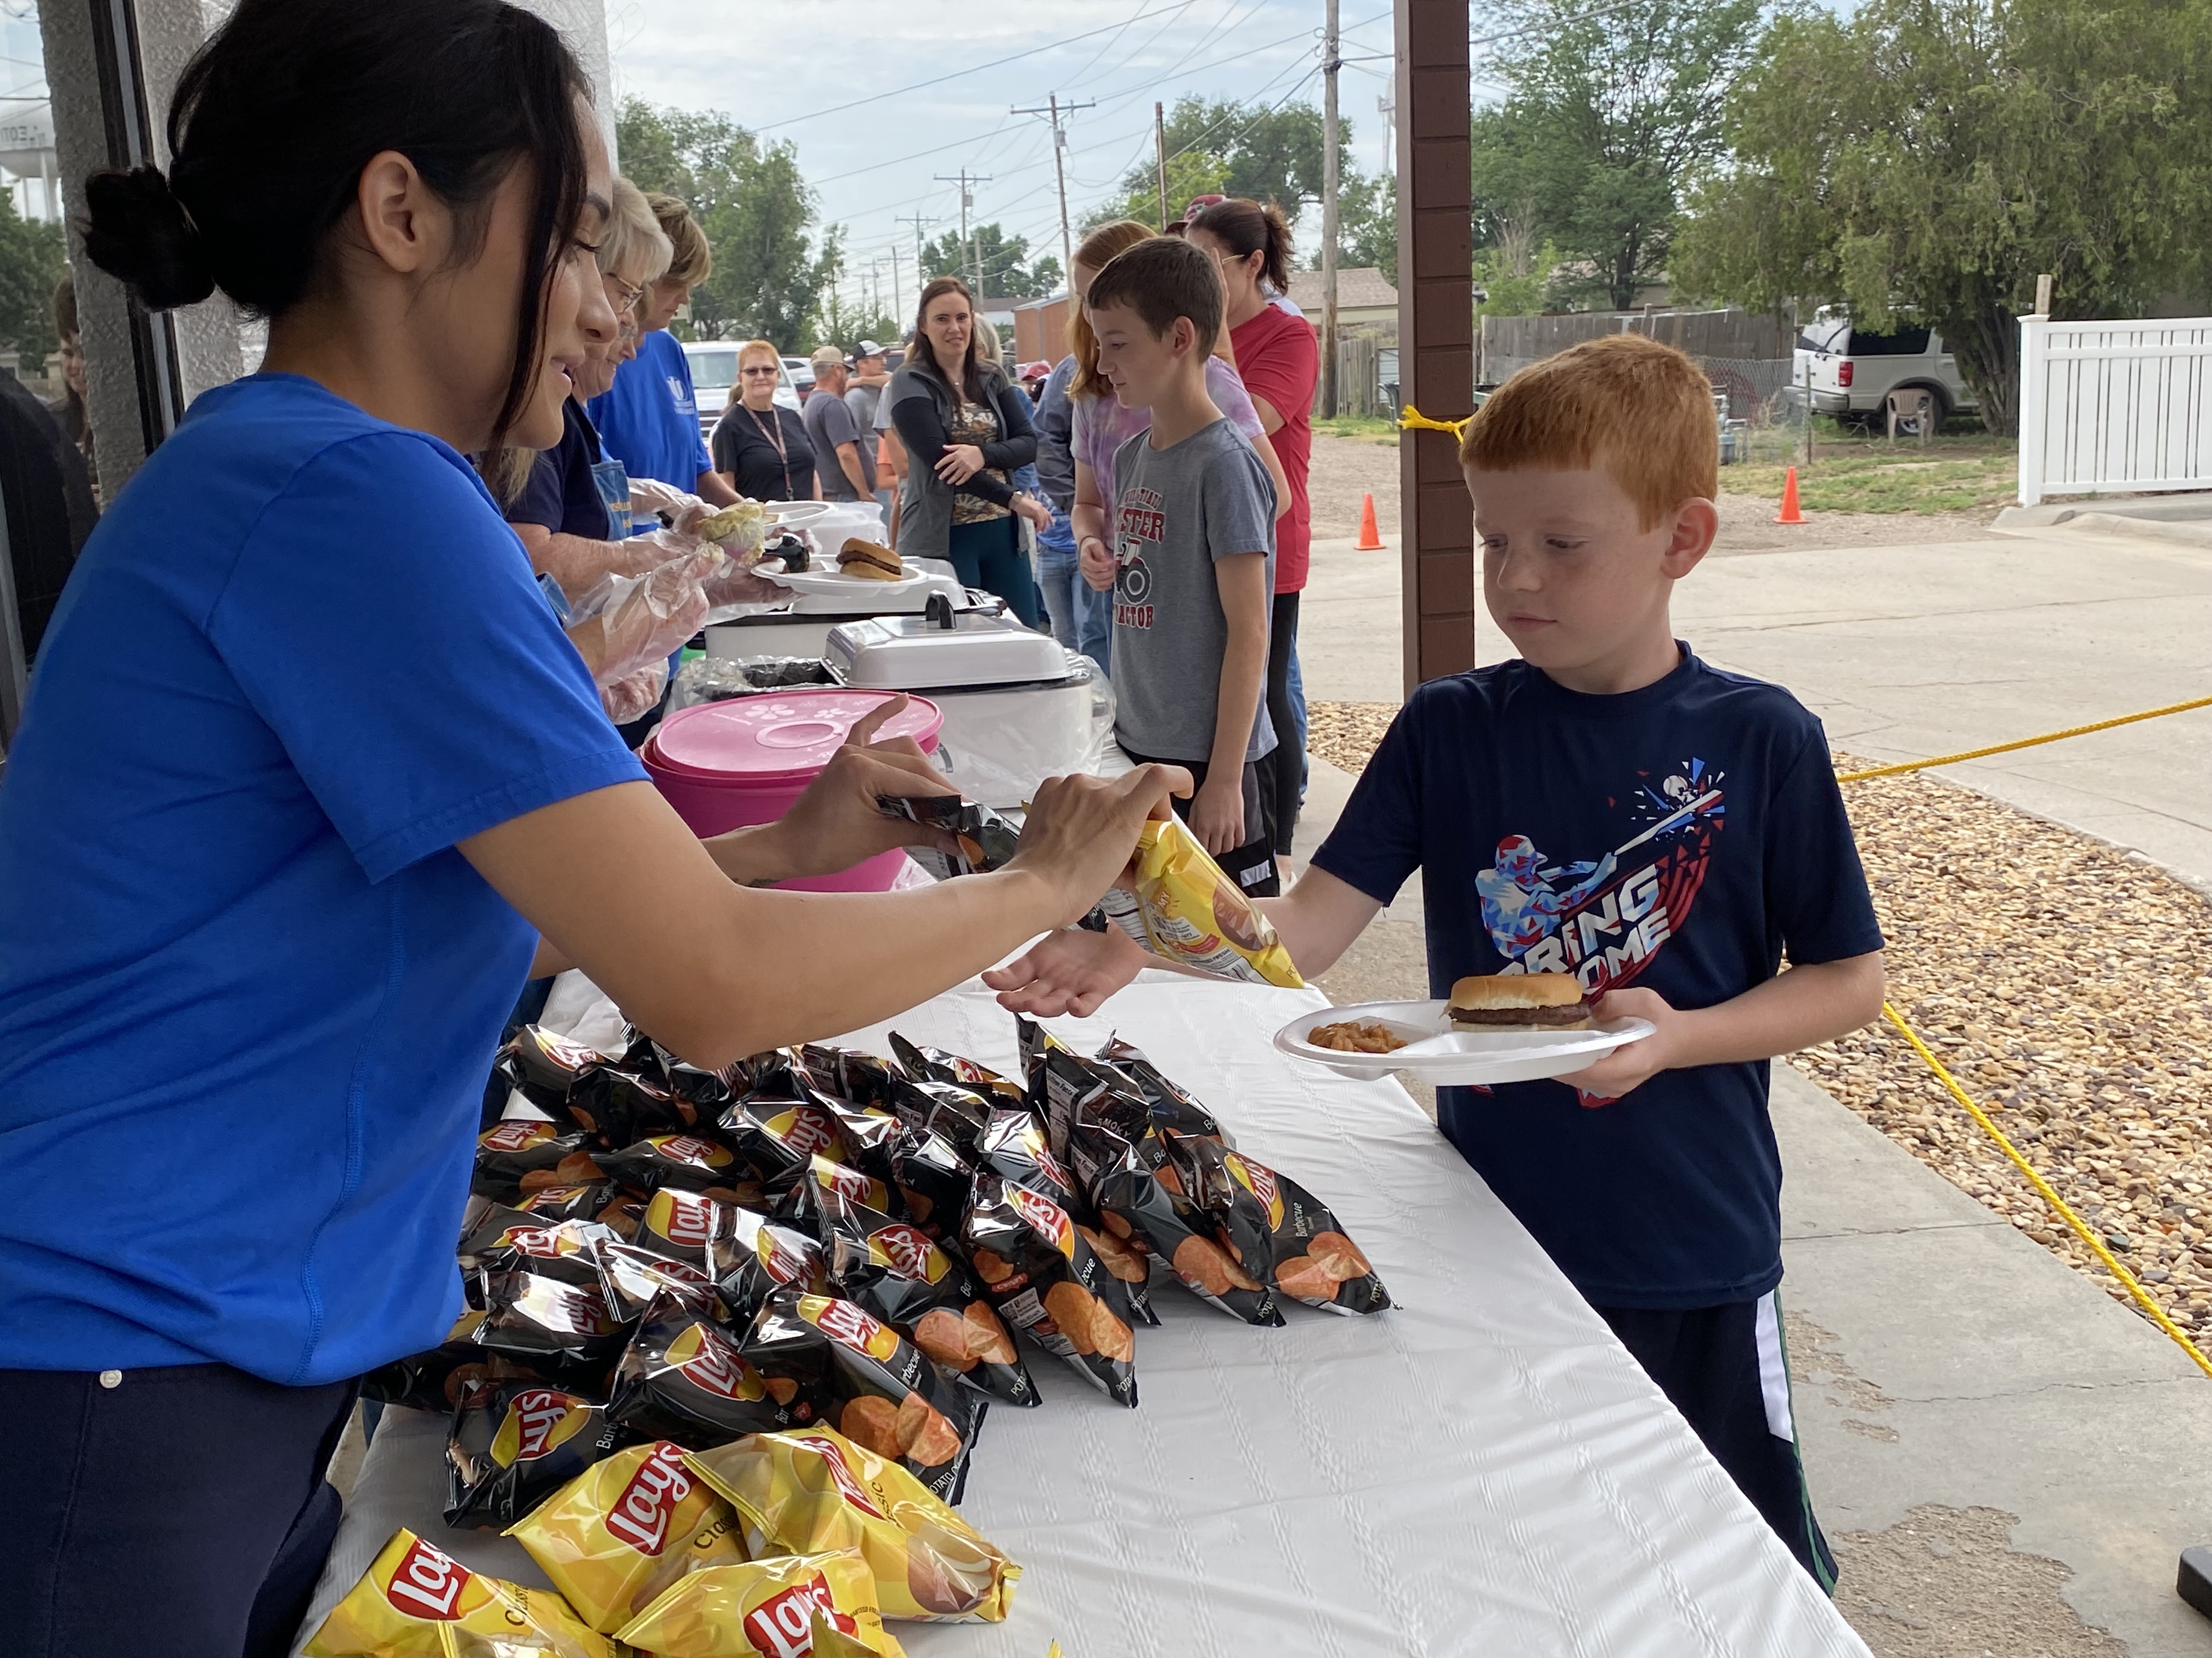
[[[283,316],[316,285],[361,168],[398,150],[482,248],[491,197],[533,170],[515,365],[498,431],[538,378],[555,259],[584,203],[573,99],[551,24],[504,0],[241,0],[192,55],[168,113],[175,161],[84,181],[84,252],[148,309],[221,287]]]

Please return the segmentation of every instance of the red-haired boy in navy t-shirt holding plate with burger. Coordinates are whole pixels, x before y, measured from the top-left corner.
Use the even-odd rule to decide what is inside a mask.
[[[1573,973],[1599,1019],[1652,1021],[1559,1081],[1442,1088],[1438,1127],[1832,1589],[1774,1298],[1767,1061],[1880,1012],[1882,935],[1820,723],[1668,619],[1719,528],[1712,389],[1666,345],[1593,340],[1495,391],[1460,464],[1520,659],[1413,692],[1263,909],[1312,977],[1418,869],[1431,995]],[[1024,1012],[1091,1012],[1148,964],[1119,933],[1055,933],[987,979]]]

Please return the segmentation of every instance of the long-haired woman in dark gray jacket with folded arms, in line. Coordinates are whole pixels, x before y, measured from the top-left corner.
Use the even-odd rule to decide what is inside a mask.
[[[1037,436],[1029,398],[995,354],[975,349],[978,327],[989,323],[978,325],[975,301],[958,276],[922,290],[914,345],[885,393],[909,455],[898,550],[951,559],[967,586],[1000,595],[1035,628],[1037,584],[1013,520],[1046,528],[1053,515],[1009,482],[1015,466],[1037,458]]]

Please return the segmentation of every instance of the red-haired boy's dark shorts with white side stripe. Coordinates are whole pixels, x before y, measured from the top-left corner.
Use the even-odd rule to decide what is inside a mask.
[[[1834,1594],[1836,1556],[1812,1517],[1805,1466],[1798,1461],[1778,1295],[1770,1291],[1754,1302],[1692,1311],[1599,1307],[1597,1315],[1681,1410],[1798,1565]]]

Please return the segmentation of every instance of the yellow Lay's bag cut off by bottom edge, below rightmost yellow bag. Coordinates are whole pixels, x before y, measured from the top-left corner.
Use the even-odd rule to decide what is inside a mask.
[[[905,1658],[854,1550],[710,1565],[679,1578],[615,1638],[657,1658],[807,1658],[816,1620],[878,1658]]]

